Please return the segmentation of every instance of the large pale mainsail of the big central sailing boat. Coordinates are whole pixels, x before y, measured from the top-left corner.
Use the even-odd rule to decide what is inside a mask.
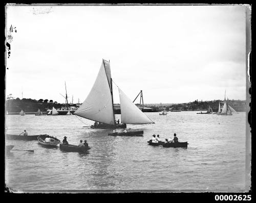
[[[114,125],[114,111],[112,95],[107,74],[110,77],[110,66],[104,66],[103,61],[97,79],[82,106],[75,111],[75,115],[98,122]]]

